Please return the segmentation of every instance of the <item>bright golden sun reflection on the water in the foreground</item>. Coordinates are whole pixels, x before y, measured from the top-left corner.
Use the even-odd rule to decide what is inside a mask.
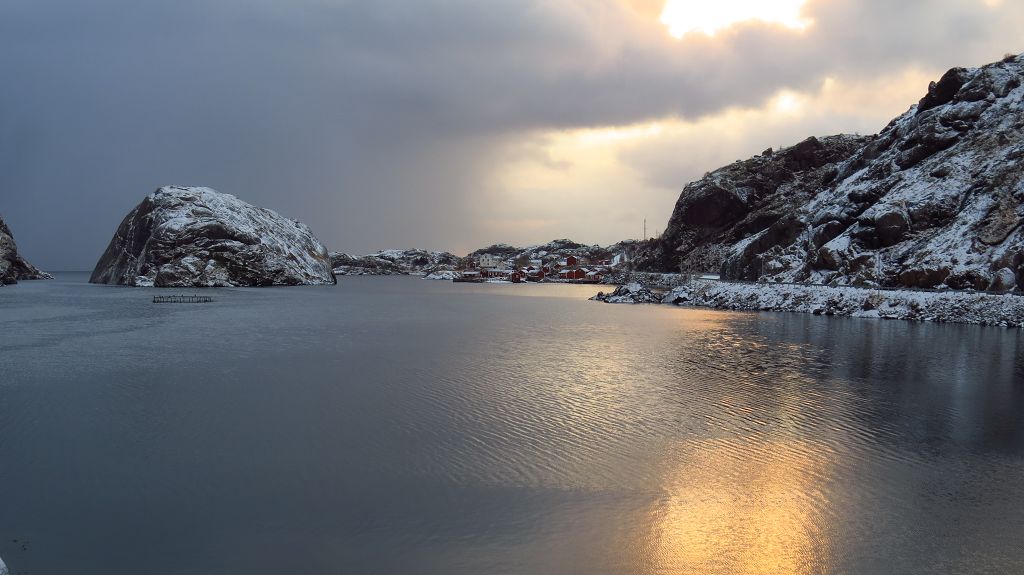
[[[818,573],[828,508],[819,487],[835,461],[802,441],[685,446],[641,543],[650,573]]]

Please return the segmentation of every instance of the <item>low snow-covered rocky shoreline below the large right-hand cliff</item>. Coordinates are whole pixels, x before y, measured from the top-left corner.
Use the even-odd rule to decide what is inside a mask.
[[[1013,294],[734,283],[694,279],[670,290],[632,282],[620,285],[609,294],[598,294],[592,299],[612,304],[660,303],[722,310],[797,312],[1024,327],[1024,296]]]

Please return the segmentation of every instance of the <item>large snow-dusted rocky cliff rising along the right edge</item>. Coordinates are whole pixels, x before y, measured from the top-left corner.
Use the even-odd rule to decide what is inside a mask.
[[[686,186],[647,266],[731,279],[1024,289],[1024,56],[953,69],[877,136]]]

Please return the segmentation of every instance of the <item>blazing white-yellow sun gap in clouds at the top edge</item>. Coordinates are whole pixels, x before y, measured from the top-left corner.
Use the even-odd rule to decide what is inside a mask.
[[[762,21],[805,30],[810,23],[801,15],[807,0],[668,0],[662,23],[676,38],[700,33],[715,36],[720,30],[743,21]]]

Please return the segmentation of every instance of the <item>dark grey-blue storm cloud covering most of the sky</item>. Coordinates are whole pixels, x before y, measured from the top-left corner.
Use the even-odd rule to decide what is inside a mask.
[[[51,269],[91,267],[167,183],[275,209],[337,250],[500,240],[475,223],[479,197],[523,134],[981,63],[1021,24],[1020,8],[968,0],[806,11],[803,35],[675,42],[610,0],[7,0],[0,210]]]

